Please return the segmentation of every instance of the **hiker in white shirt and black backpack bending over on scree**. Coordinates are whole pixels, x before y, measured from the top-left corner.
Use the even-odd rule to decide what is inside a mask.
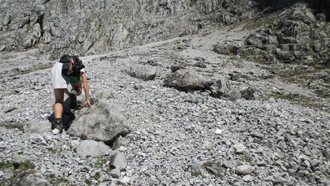
[[[83,106],[91,106],[91,103],[89,102],[89,89],[85,73],[85,65],[83,65],[83,62],[76,56],[64,55],[61,57],[60,61],[55,63],[51,73],[55,95],[55,122],[52,124],[52,130],[57,128],[62,132],[64,128],[62,120],[64,93],[70,98],[70,108],[75,109],[77,107],[77,95],[81,94],[83,86],[86,97]],[[72,91],[67,89],[69,84],[72,86]]]

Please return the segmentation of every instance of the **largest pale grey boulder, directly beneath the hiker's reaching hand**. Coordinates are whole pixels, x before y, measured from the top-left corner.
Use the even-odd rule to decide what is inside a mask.
[[[119,135],[129,133],[129,122],[119,106],[97,103],[87,108],[67,130],[69,135],[113,143]]]

